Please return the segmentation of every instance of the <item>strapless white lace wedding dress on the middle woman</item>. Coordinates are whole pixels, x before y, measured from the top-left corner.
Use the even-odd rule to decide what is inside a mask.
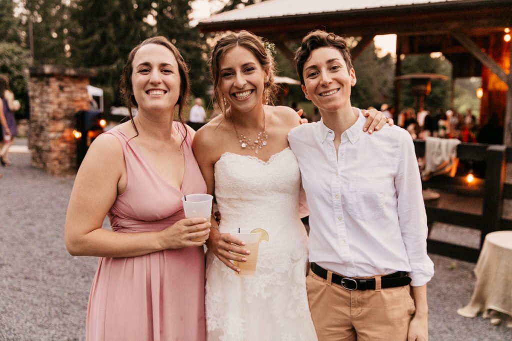
[[[316,340],[306,294],[307,235],[298,217],[300,172],[286,148],[268,162],[224,153],[215,165],[221,233],[261,228],[253,276],[240,277],[212,253],[206,261],[207,339]]]

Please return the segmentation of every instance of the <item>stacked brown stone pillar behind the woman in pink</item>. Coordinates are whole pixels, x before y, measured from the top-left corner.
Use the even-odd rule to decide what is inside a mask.
[[[29,148],[32,166],[55,175],[76,172],[74,116],[89,109],[87,85],[95,72],[57,65],[30,68]]]

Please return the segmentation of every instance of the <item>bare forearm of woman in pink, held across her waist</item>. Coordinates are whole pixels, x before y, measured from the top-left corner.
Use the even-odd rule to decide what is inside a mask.
[[[159,232],[120,233],[95,229],[83,236],[67,234],[66,247],[73,256],[135,257],[161,251]]]

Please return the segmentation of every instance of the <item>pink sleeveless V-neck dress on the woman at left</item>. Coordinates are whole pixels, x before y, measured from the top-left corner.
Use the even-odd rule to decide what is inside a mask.
[[[175,122],[182,137],[183,126]],[[123,131],[109,132],[121,142],[127,186],[109,211],[118,233],[160,231],[184,218],[183,194],[206,193],[191,150],[183,144],[181,189],[164,181]],[[87,340],[204,340],[203,247],[168,249],[138,257],[98,262],[87,311]]]

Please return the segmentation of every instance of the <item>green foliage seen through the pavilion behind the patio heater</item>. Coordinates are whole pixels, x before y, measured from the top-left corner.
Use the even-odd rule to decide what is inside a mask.
[[[451,78],[452,64],[443,56],[431,57],[430,55],[407,55],[402,60],[402,75],[416,73],[433,73]],[[415,99],[411,92],[409,81],[402,81],[400,107],[415,107]],[[436,108],[450,106],[450,80],[432,80],[431,93],[425,96],[425,109],[432,112]]]

